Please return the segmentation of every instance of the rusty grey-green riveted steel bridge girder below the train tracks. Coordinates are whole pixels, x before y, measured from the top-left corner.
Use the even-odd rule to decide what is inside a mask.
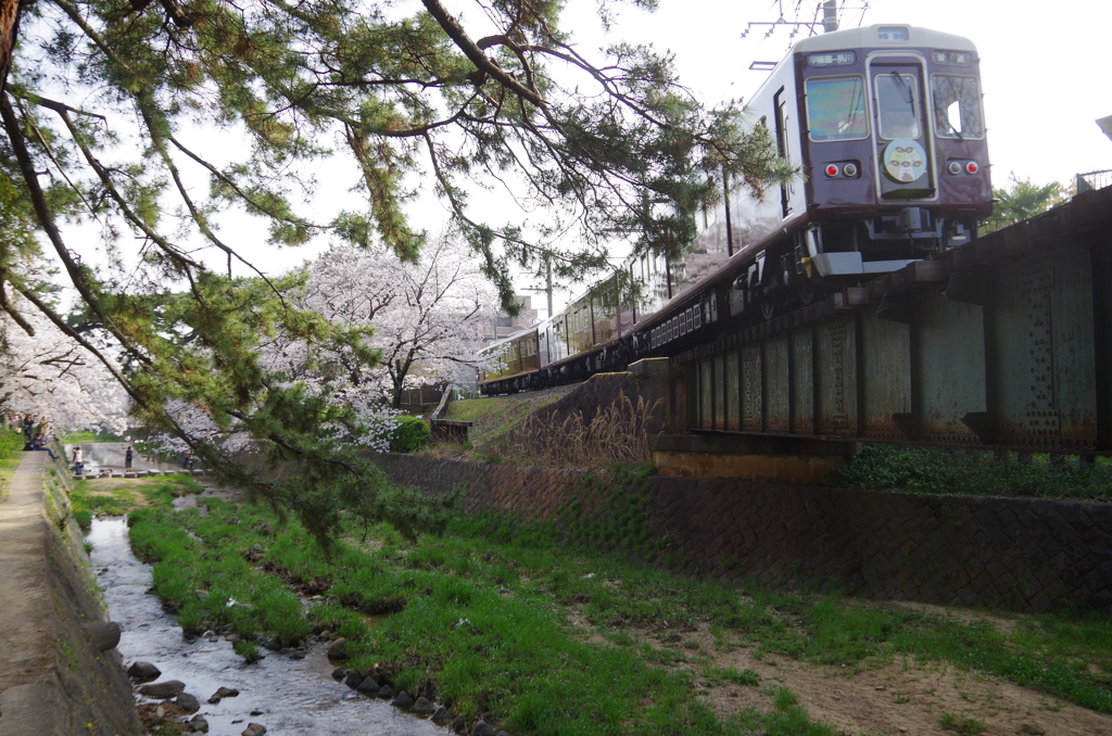
[[[1112,455],[1112,188],[673,367],[688,430]]]

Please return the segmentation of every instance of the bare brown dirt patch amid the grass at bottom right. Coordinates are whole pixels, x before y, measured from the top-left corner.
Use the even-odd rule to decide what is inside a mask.
[[[969,616],[971,620],[983,620],[980,615]],[[603,639],[582,613],[570,609],[568,619],[588,640]],[[1110,715],[945,663],[898,657],[823,666],[757,656],[752,646],[739,646],[728,636],[716,638],[705,625],[626,631],[638,643],[671,650],[672,666],[695,674],[697,698],[723,720],[747,708],[772,710],[776,690],[786,687],[812,719],[840,734],[954,734],[941,725],[944,715],[950,714],[957,722],[979,722],[984,727],[981,733],[990,736],[1112,735]],[[715,670],[749,670],[759,682],[755,686],[723,682]]]

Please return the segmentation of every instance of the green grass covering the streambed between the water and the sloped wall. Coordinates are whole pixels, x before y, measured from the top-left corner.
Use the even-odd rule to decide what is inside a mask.
[[[681,579],[626,561],[652,544],[637,529],[635,493],[615,496],[622,529],[575,509],[552,525],[460,517],[443,537],[414,544],[385,527],[353,530],[330,558],[266,509],[201,503],[203,516],[160,503],[130,517],[132,545],[153,563],[156,590],[187,630],[230,625],[287,646],[344,637],[346,667],[515,735],[834,734],[780,682],[719,664],[738,649],[755,662],[836,663],[851,673],[937,662],[1112,713],[1106,619],[1029,617],[1001,629]],[[609,554],[589,551],[607,544]],[[258,655],[249,640],[238,652]],[[704,696],[722,685],[758,694],[761,705],[717,718]],[[936,717],[977,733],[975,718]]]

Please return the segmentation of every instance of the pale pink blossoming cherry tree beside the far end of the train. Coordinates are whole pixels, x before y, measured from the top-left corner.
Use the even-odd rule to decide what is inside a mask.
[[[404,389],[454,382],[460,370],[484,367],[483,327],[496,315],[498,296],[464,247],[450,236],[430,245],[416,263],[390,251],[337,245],[307,269],[300,306],[322,315],[360,346],[324,348],[278,336],[267,366],[312,384],[351,405],[368,426],[397,409]],[[388,422],[387,422],[388,424]]]

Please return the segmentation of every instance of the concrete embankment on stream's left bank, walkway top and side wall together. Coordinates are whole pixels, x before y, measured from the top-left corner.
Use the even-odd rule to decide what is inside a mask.
[[[141,734],[66,476],[26,452],[0,503],[0,736]]]

